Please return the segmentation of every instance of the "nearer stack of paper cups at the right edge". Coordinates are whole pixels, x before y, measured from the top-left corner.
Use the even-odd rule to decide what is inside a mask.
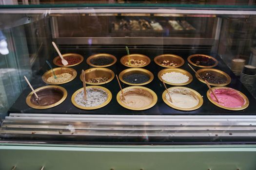
[[[256,80],[256,67],[245,65],[241,73],[240,81],[246,87],[252,87]]]

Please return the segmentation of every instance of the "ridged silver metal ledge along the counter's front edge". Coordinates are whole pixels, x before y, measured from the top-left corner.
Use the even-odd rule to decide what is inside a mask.
[[[0,136],[1,143],[255,144],[256,116],[10,114]]]

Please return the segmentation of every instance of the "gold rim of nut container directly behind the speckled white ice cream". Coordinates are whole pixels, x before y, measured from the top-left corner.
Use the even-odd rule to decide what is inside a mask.
[[[88,85],[104,85],[104,84],[111,82],[115,77],[115,73],[111,69],[108,69],[108,68],[89,68],[84,71],[84,75],[85,75],[85,83]],[[87,82],[87,79],[98,78],[98,77],[103,77],[103,76],[105,76],[109,79],[107,81],[101,82],[101,83]],[[80,74],[80,80],[82,81],[82,74]]]

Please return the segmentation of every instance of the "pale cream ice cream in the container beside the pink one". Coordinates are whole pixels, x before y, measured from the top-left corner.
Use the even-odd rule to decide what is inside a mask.
[[[189,89],[176,88],[169,90],[169,93],[171,95],[172,102],[170,101],[168,93],[166,93],[165,98],[168,102],[176,107],[184,109],[192,108],[197,106],[197,104],[199,103],[199,99],[197,98],[197,96]]]

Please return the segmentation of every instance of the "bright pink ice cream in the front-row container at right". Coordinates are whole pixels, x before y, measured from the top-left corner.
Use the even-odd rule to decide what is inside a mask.
[[[231,88],[214,89],[214,93],[216,94],[217,99],[219,101],[218,104],[222,106],[237,108],[242,107],[245,104],[244,98]],[[212,93],[210,94],[210,96],[213,101],[217,102]]]

